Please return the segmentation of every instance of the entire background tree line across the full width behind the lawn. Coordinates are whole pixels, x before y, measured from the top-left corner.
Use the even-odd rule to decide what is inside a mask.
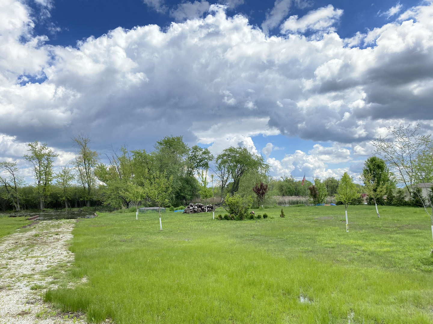
[[[354,184],[358,195],[350,203],[363,203],[361,194],[367,194],[368,203],[376,206],[428,206],[428,197],[423,197],[416,185],[433,181],[430,136],[419,135],[419,125],[388,130],[389,138],[372,142],[376,156],[365,161],[361,175],[364,186]],[[75,158],[55,173],[53,163],[58,155],[46,143],[29,143],[23,158],[32,165],[33,184],[24,182],[16,162],[0,162],[0,209],[155,205],[145,192],[157,175],[172,179],[168,201],[173,206],[186,205],[199,197],[222,200],[235,192],[255,197],[254,205],[268,203],[272,196],[306,195],[317,204],[328,196],[335,197],[341,185],[341,180],[334,177],[306,180],[304,185],[291,175],[277,180],[269,176],[269,165],[263,157],[246,148],[232,146],[213,156],[206,148],[187,146],[181,136],[164,137],[149,152],[129,150],[126,145],[112,147],[103,153],[107,163],[101,162],[85,135],[74,137],[72,147]],[[212,191],[208,188],[209,174]]]

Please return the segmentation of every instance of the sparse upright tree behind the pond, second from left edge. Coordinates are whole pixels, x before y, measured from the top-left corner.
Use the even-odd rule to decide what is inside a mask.
[[[40,144],[38,140],[28,143],[29,154],[23,156],[33,166],[33,177],[35,178],[36,192],[39,197],[39,208],[45,207],[52,181],[54,179],[53,162],[58,154],[48,149],[46,143]]]

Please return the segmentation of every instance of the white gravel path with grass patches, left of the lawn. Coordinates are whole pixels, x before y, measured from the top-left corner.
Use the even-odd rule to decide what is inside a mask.
[[[75,219],[35,222],[0,240],[0,324],[86,323],[42,301],[74,260],[68,250]]]

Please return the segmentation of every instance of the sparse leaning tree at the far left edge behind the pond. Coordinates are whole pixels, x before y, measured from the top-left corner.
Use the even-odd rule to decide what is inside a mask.
[[[16,162],[0,162],[0,185],[4,188],[1,196],[9,201],[16,211],[20,210],[20,194],[18,188],[24,185],[23,177],[19,176]]]

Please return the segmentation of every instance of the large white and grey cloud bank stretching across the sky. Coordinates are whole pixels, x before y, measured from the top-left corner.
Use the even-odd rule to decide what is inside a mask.
[[[66,150],[79,132],[98,149],[172,133],[214,151],[256,150],[252,135],[281,133],[355,152],[384,125],[431,129],[431,1],[350,39],[335,32],[343,12],[333,6],[291,16],[284,35],[271,37],[224,8],[210,5],[204,18],[166,30],[117,28],[61,47],[34,35],[29,7],[1,0],[0,133]],[[290,156],[285,162],[287,171]]]

